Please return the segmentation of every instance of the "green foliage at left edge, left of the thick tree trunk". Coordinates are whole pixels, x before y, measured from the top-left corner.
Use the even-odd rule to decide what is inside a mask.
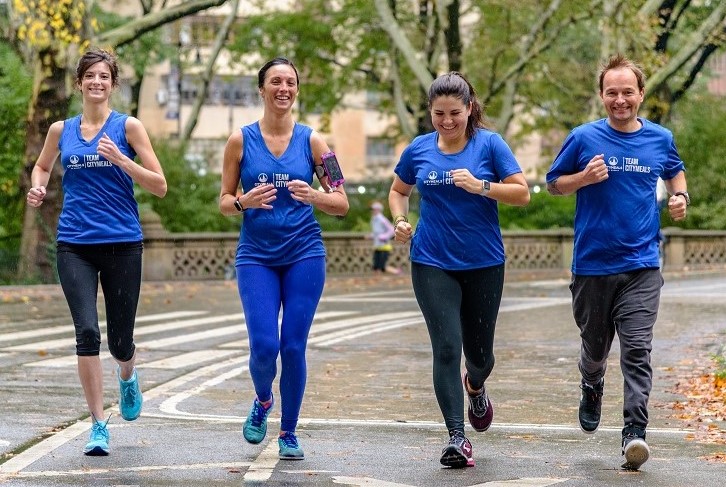
[[[12,278],[19,255],[24,204],[18,181],[31,84],[22,61],[0,41],[0,283]]]

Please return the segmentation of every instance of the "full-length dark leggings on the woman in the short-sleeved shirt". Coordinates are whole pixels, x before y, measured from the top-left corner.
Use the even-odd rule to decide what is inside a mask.
[[[413,262],[411,280],[431,338],[436,400],[447,429],[463,431],[461,351],[469,382],[481,388],[494,368],[504,265],[447,271]]]

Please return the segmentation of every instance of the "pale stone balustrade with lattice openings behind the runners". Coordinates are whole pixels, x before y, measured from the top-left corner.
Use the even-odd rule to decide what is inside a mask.
[[[156,215],[144,217],[144,279],[225,279],[234,274],[237,233],[168,233]],[[666,271],[726,268],[726,232],[663,231]],[[566,274],[572,261],[571,229],[503,231],[507,272]],[[371,241],[364,233],[325,232],[329,275],[363,274],[370,271]],[[391,265],[410,269],[408,246],[394,245]]]

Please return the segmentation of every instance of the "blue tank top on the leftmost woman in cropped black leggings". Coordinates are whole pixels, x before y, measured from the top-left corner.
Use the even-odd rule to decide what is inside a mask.
[[[58,141],[63,166],[63,209],[59,242],[103,244],[143,240],[134,181],[97,152],[104,133],[129,159],[136,152],[126,140],[128,115],[112,111],[91,139],[81,134],[81,115],[65,120]]]

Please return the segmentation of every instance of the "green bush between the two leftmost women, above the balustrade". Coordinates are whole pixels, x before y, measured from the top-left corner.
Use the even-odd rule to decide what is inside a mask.
[[[220,177],[200,176],[184,159],[184,147],[165,141],[154,141],[156,152],[166,176],[164,198],[140,190],[138,201],[148,204],[161,217],[170,232],[232,232],[239,231],[240,219],[219,212]]]

